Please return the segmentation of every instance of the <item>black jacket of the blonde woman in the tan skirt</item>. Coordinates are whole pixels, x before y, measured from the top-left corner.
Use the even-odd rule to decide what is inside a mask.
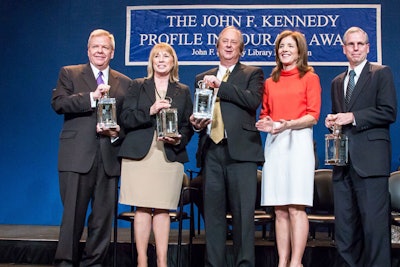
[[[193,135],[189,122],[193,112],[192,97],[189,87],[179,82],[168,84],[166,97],[172,99],[171,108],[178,109],[178,131],[182,139],[179,145],[165,143],[165,153],[168,160],[184,163],[189,161],[186,145]],[[126,131],[126,138],[119,152],[120,157],[141,159],[149,152],[157,126],[156,115],[150,116],[150,107],[155,101],[154,79],[135,79],[120,116]]]

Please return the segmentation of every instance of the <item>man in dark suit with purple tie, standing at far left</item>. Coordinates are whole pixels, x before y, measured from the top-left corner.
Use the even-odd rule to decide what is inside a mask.
[[[117,153],[123,131],[119,125],[107,128],[97,123],[96,102],[109,93],[116,98],[119,114],[131,85],[130,78],[109,67],[114,49],[112,34],[93,31],[88,40],[89,63],[61,68],[53,90],[51,105],[57,114],[64,115],[58,154],[64,211],[56,266],[103,266],[110,244],[115,189],[120,175]],[[92,211],[80,259],[79,240],[89,202]]]

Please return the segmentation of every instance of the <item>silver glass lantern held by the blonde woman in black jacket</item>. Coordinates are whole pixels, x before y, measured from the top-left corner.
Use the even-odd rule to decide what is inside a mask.
[[[157,136],[177,137],[178,110],[176,108],[164,108],[157,113]]]

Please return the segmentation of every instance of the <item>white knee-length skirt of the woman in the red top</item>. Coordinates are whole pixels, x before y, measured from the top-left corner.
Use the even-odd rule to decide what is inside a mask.
[[[315,167],[313,129],[268,134],[264,155],[261,205],[312,206]]]

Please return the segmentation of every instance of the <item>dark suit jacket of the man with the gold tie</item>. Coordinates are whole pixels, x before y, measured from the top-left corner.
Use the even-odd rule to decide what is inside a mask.
[[[217,75],[213,68],[196,76],[195,87],[205,75]],[[222,119],[227,133],[228,150],[232,159],[262,164],[261,136],[256,123],[256,111],[261,103],[264,74],[258,67],[246,66],[238,62],[227,82],[222,82],[218,90]],[[197,166],[201,167],[210,141],[207,129],[199,135]]]

